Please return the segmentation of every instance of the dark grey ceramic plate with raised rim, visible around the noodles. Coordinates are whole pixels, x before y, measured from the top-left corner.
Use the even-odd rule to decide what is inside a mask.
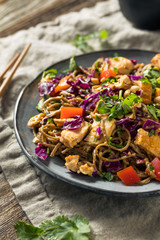
[[[106,50],[100,52],[92,52],[77,56],[77,63],[83,67],[88,67],[99,57],[113,57],[114,53],[121,56],[137,59],[139,62],[149,63],[155,52],[140,50]],[[56,68],[62,71],[68,68],[69,59],[61,61],[49,68]],[[47,69],[49,69],[47,68]],[[29,160],[45,173],[56,177],[66,183],[92,190],[98,193],[123,195],[123,196],[153,196],[160,193],[160,182],[152,181],[143,186],[125,186],[121,181],[108,182],[100,178],[92,178],[89,176],[73,174],[64,167],[64,161],[59,157],[49,158],[47,161],[41,161],[35,156],[35,145],[32,143],[32,130],[27,127],[27,122],[31,115],[36,115],[36,105],[39,101],[37,84],[40,81],[42,73],[31,81],[20,93],[15,106],[14,113],[14,129],[17,140]]]

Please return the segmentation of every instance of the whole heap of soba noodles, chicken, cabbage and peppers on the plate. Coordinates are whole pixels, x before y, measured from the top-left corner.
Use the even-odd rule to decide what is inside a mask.
[[[121,180],[125,185],[160,181],[160,54],[145,65],[122,56],[92,66],[45,71],[38,84],[35,154],[55,155],[73,174]]]

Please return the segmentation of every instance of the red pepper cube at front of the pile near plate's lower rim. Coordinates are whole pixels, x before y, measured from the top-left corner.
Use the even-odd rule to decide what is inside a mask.
[[[117,175],[122,180],[122,182],[127,186],[131,186],[140,181],[138,174],[136,173],[132,166],[117,172]]]

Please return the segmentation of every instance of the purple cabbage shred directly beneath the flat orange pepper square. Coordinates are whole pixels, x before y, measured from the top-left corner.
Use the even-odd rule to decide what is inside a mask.
[[[84,121],[83,117],[75,116],[74,120],[66,120],[63,125],[63,129],[76,130],[81,127],[82,122]]]

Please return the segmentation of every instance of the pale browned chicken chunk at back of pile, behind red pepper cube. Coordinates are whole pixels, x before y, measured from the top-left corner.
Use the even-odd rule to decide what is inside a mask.
[[[109,59],[109,68],[117,68],[118,74],[129,74],[133,68],[133,63],[124,57],[116,57]]]

